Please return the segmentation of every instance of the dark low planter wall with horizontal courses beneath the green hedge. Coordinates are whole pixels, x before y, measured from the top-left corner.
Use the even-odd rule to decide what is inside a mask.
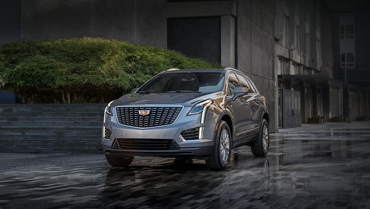
[[[0,152],[99,153],[106,104],[1,104]]]

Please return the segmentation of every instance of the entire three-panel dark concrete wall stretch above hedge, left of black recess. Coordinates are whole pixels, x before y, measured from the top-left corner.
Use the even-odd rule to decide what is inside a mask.
[[[21,39],[103,37],[166,48],[166,0],[22,0]]]

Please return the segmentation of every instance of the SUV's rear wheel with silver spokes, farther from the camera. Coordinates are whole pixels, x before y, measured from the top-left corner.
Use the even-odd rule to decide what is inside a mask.
[[[257,141],[251,146],[253,155],[256,157],[266,156],[266,154],[269,152],[269,145],[270,145],[269,124],[265,119],[262,119]]]

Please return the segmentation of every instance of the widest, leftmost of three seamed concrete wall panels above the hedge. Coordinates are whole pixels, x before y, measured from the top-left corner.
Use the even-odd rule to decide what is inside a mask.
[[[91,0],[22,0],[21,38],[92,36]]]

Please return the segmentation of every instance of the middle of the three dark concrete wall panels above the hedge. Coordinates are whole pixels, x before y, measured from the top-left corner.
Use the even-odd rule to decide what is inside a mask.
[[[135,0],[96,0],[94,37],[135,43]]]

